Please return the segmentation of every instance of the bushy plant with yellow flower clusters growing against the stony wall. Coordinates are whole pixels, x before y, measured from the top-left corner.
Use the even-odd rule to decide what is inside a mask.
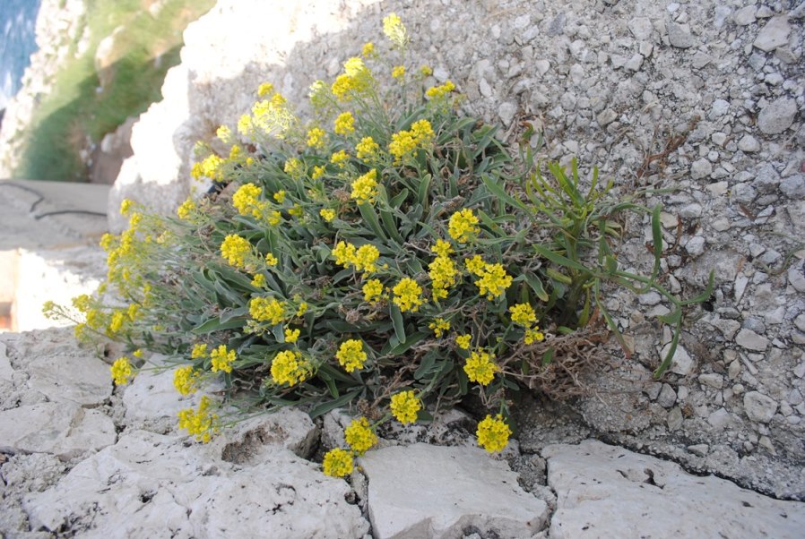
[[[386,17],[384,31],[404,58],[402,21]],[[350,449],[325,456],[330,475],[351,472],[379,424],[428,418],[428,405],[470,391],[491,412],[480,445],[503,449],[507,394],[533,385],[562,350],[573,354],[563,339],[590,342],[596,307],[617,330],[602,282],[681,303],[656,272],[617,267],[614,216],[639,206],[610,201],[596,175],[582,193],[576,163],[569,176],[558,165],[541,175],[527,136],[513,158],[495,127],[455,112],[454,83],[428,84],[431,75],[385,63],[367,44],[332,84],[313,83],[307,124],[262,85],[251,113],[218,132],[229,156],[194,167],[212,193],[174,218],[124,203],[130,228],[102,241],[101,294],[126,304],[77,298],[77,331],[175,358],[182,394],[220,377],[230,403],[307,406],[311,416],[355,406]],[[659,260],[662,238],[655,247]],[[117,383],[133,375],[126,358],[113,372]],[[200,441],[220,422],[206,397],[180,416]]]

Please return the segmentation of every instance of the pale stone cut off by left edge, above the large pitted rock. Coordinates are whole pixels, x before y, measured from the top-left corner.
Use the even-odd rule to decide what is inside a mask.
[[[98,410],[69,401],[0,412],[0,452],[50,453],[67,460],[112,445],[115,424]]]

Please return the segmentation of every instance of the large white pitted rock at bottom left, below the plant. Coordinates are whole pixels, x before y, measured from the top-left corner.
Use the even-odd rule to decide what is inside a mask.
[[[221,446],[132,431],[24,507],[34,529],[82,537],[360,537],[342,480],[281,447],[231,463]]]

